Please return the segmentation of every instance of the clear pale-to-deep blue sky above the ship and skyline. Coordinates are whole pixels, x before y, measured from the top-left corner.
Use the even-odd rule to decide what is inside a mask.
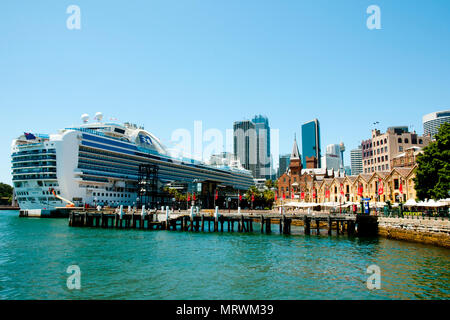
[[[71,4],[81,30],[66,28]],[[381,30],[366,27],[372,4]],[[312,118],[322,149],[355,148],[375,121],[422,133],[450,106],[449,39],[448,0],[2,1],[0,181],[13,138],[97,111],[166,143],[194,120],[224,131],[261,113],[281,153]]]

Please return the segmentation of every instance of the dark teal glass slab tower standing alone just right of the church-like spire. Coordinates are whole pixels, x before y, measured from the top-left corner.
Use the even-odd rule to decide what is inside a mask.
[[[320,127],[314,119],[302,125],[302,160],[306,168],[320,168]]]

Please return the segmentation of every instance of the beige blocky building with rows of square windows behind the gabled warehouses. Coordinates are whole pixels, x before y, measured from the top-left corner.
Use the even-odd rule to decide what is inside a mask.
[[[426,147],[430,141],[430,136],[409,132],[408,127],[390,127],[385,133],[372,130],[372,139],[361,143],[363,173],[390,171],[394,157],[411,147]]]

